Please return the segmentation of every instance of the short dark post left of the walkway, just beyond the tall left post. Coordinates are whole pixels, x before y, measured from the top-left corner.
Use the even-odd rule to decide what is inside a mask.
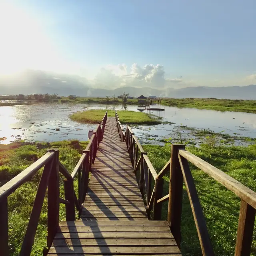
[[[66,220],[76,220],[73,180],[64,179],[64,194],[69,202],[65,204]]]

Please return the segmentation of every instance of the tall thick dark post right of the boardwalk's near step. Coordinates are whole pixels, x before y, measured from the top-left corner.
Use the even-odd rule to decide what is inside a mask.
[[[180,247],[181,242],[181,213],[182,213],[182,191],[183,175],[180,168],[178,151],[184,149],[184,144],[172,144],[169,180],[169,204],[168,204],[168,224],[172,234]]]

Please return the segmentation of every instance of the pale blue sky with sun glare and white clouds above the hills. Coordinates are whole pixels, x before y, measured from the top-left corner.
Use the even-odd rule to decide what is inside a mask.
[[[0,0],[0,75],[105,87],[256,84],[255,0]]]

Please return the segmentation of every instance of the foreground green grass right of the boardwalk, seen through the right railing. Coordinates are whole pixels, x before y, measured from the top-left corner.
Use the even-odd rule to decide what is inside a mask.
[[[159,172],[170,158],[170,145],[144,145],[153,166]],[[202,144],[199,148],[187,146],[186,149],[204,159],[213,166],[226,172],[245,186],[256,191],[256,145],[242,146],[212,146]],[[215,182],[204,172],[190,166],[198,196],[203,208],[215,255],[234,255],[236,232],[240,209],[240,198]],[[164,195],[168,194],[168,178],[165,177]],[[182,208],[182,255],[202,255],[200,244],[184,186]],[[168,203],[164,202],[162,219],[167,218]],[[256,255],[256,228],[252,242],[252,253]]]

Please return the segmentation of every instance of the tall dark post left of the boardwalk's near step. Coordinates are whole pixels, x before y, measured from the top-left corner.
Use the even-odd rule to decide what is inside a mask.
[[[55,151],[52,161],[52,171],[48,183],[48,237],[47,245],[50,248],[54,236],[59,226],[60,212],[60,178],[59,178],[59,150],[49,149],[48,152]]]

